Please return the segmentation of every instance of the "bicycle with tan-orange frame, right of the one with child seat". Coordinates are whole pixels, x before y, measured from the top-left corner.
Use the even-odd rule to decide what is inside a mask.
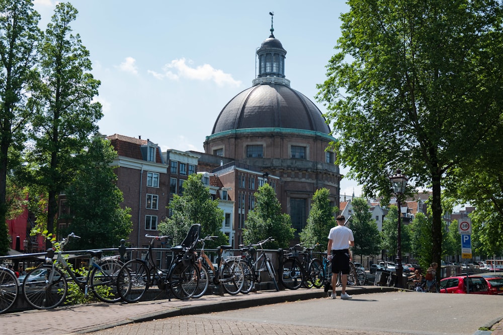
[[[207,236],[200,239],[198,242],[202,243],[201,252],[197,258],[197,266],[200,273],[199,285],[193,298],[202,297],[208,290],[210,283],[215,285],[222,285],[223,289],[231,294],[238,294],[243,288],[244,273],[241,266],[241,256],[227,256],[223,257],[223,251],[232,249],[232,246],[218,247],[217,263],[214,265],[209,259],[208,255],[204,252],[205,241],[213,241],[218,236]],[[208,271],[208,267],[211,269]]]

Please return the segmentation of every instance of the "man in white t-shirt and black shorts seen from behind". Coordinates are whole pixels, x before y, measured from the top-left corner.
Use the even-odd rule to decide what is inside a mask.
[[[330,229],[328,233],[328,247],[327,255],[331,257],[332,261],[332,295],[331,298],[335,299],[336,294],[336,284],[337,284],[337,274],[341,273],[341,299],[351,299],[352,296],[346,293],[346,284],[348,283],[348,274],[350,271],[350,250],[349,247],[355,245],[355,238],[353,237],[353,232],[351,229],[346,227],[346,218],[344,215],[339,215],[336,218],[337,226]]]

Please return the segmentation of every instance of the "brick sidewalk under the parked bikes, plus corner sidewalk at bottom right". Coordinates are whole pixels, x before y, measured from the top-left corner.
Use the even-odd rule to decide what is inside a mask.
[[[338,289],[338,293],[340,293]],[[348,287],[351,295],[394,291],[393,287]],[[160,299],[138,303],[92,303],[63,306],[51,310],[29,310],[0,315],[2,333],[24,334],[81,334],[117,325],[150,321],[173,316],[202,314],[260,305],[326,297],[323,289],[259,291],[246,295],[206,295],[199,299]],[[492,324],[491,324],[492,325]],[[491,326],[486,325],[486,326]],[[503,323],[494,331],[477,331],[474,335],[503,335]]]

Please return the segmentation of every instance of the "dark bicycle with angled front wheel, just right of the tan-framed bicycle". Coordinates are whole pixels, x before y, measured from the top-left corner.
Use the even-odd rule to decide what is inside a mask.
[[[240,246],[240,250],[243,254],[241,260],[241,267],[244,273],[244,283],[241,293],[246,294],[254,289],[256,283],[260,283],[262,280],[261,273],[266,272],[269,274],[269,278],[274,283],[276,291],[279,291],[278,282],[276,281],[276,273],[274,267],[271,263],[271,259],[267,256],[264,250],[264,244],[272,242],[274,239],[269,237],[264,241],[260,241],[257,244],[250,244],[248,246]],[[257,249],[256,247],[259,247]],[[259,255],[257,260],[254,260],[254,254],[257,252]]]

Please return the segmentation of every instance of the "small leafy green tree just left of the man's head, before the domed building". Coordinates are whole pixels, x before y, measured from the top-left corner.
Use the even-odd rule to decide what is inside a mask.
[[[326,188],[320,188],[314,192],[307,225],[300,232],[301,242],[309,247],[319,243],[319,250],[326,250],[328,232],[336,225],[334,217],[336,208],[330,205],[329,195],[330,191]]]

